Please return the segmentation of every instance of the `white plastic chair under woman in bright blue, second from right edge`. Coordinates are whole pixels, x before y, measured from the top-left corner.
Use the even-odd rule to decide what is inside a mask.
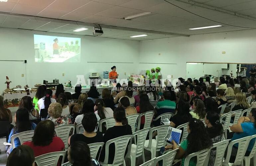
[[[249,142],[251,140],[251,136],[243,137],[240,139],[233,140],[229,142],[229,145],[227,147],[227,155],[225,161],[222,163],[223,166],[232,166],[232,165],[243,165],[243,158],[246,153],[246,150],[248,148]],[[235,157],[234,163],[230,163],[230,156],[232,147],[234,144],[238,143],[238,149]]]

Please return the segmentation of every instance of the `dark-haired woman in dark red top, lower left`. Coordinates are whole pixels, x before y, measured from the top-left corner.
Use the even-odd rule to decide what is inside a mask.
[[[34,156],[46,153],[64,151],[65,145],[61,138],[54,136],[54,123],[50,120],[40,122],[36,129],[32,141],[24,142],[34,151]]]

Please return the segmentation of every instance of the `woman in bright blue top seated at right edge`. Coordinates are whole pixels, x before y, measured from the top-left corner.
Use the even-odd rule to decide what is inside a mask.
[[[232,140],[236,140],[239,138],[243,138],[246,136],[251,136],[256,134],[256,108],[253,108],[251,110],[251,113],[249,117],[240,117],[237,124],[233,124],[230,127],[230,130],[233,131],[233,133],[228,134],[228,139],[231,138],[232,134]],[[249,146],[247,148],[247,151],[245,153],[245,156],[249,156],[253,146],[254,146],[255,138],[250,141]],[[235,144],[232,148],[231,157],[229,162],[234,162],[235,156],[237,153],[238,144]]]

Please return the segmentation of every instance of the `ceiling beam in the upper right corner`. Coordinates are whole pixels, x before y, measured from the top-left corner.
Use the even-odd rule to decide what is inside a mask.
[[[237,17],[242,17],[242,18],[245,18],[245,19],[256,21],[255,17],[247,16],[247,15],[244,15],[244,14],[241,14],[241,13],[233,12],[231,10],[218,8],[216,6],[207,5],[207,4],[196,2],[196,1],[193,1],[193,0],[176,0],[176,1],[184,2],[184,3],[187,3],[187,4],[194,5],[194,6],[199,6],[199,7],[202,7],[202,8],[206,8],[206,9],[210,9],[210,10],[214,10],[214,11],[218,11],[218,12],[234,15],[234,16],[237,16]]]

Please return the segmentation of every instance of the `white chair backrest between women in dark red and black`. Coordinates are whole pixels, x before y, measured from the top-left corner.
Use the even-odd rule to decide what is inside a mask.
[[[75,132],[75,125],[74,124],[64,124],[55,127],[55,132],[58,137],[62,139],[65,144],[65,149],[68,148],[68,137],[71,129],[73,128],[72,134]]]

